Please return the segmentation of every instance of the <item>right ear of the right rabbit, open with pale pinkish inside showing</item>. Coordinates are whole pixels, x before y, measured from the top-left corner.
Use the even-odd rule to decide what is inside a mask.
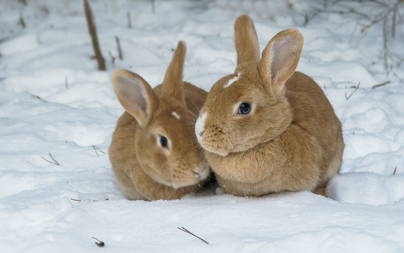
[[[297,29],[288,29],[276,34],[262,52],[258,69],[261,78],[271,84],[275,94],[282,91],[285,82],[295,72],[302,47],[301,33]]]

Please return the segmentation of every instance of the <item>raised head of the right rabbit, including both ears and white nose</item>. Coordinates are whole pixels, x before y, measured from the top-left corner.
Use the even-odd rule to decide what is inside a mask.
[[[296,29],[279,32],[260,50],[254,23],[241,15],[234,23],[237,67],[210,89],[195,125],[200,145],[227,155],[273,139],[292,122],[284,84],[295,72],[303,36]]]

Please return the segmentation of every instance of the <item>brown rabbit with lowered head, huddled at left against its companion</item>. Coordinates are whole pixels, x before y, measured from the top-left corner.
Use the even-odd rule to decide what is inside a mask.
[[[181,40],[163,83],[154,89],[128,70],[112,76],[126,112],[108,152],[116,181],[129,200],[181,198],[200,189],[209,175],[194,132],[207,92],[183,82],[185,53]]]

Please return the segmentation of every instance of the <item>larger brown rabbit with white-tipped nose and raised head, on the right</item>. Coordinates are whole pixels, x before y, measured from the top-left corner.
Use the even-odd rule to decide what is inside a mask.
[[[213,85],[195,125],[219,185],[238,196],[301,190],[325,196],[345,145],[323,91],[295,72],[303,36],[279,32],[260,59],[254,23],[241,15],[234,40],[236,70]]]

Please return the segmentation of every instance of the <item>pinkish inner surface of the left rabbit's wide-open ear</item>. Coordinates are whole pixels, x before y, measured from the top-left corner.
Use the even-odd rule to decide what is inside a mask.
[[[139,113],[147,117],[146,91],[143,83],[133,77],[120,76],[116,78],[119,98],[122,107],[133,116]]]

